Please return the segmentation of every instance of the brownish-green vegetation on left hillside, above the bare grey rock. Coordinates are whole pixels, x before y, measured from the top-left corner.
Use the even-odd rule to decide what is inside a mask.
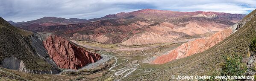
[[[12,26],[0,17],[0,61],[15,56],[24,62],[26,69],[49,70],[52,66],[33,51],[31,34]]]

